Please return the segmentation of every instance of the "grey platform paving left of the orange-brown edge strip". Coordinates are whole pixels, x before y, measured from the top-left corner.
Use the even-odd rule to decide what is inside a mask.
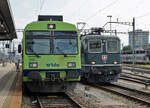
[[[5,104],[10,93],[13,92],[12,85],[16,79],[15,64],[7,63],[4,67],[0,64],[0,108],[6,108]]]

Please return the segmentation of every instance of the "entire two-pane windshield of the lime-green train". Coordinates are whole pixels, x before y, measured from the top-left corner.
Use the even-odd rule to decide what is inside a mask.
[[[77,32],[27,31],[26,54],[77,54]]]

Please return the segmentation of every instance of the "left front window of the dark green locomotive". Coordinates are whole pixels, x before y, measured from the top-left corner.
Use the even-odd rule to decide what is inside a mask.
[[[102,50],[101,40],[100,41],[89,41],[89,52],[99,53]]]

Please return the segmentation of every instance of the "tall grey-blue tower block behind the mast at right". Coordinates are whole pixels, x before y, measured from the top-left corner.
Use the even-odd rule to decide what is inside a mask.
[[[133,48],[133,31],[129,32],[129,45]],[[143,46],[148,45],[149,31],[143,31],[141,29],[135,30],[135,50],[143,49]]]

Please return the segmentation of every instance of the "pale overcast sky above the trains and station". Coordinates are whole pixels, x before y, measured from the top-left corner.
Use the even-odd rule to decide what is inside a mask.
[[[40,14],[63,15],[65,22],[86,22],[87,28],[102,27],[109,21],[108,15],[112,15],[112,21],[119,18],[132,22],[135,17],[136,29],[150,30],[150,0],[10,0],[10,4],[16,29],[24,29]],[[129,26],[112,26],[118,31],[132,30]],[[127,35],[118,36],[124,45],[128,44]],[[18,37],[21,39],[21,33]]]

